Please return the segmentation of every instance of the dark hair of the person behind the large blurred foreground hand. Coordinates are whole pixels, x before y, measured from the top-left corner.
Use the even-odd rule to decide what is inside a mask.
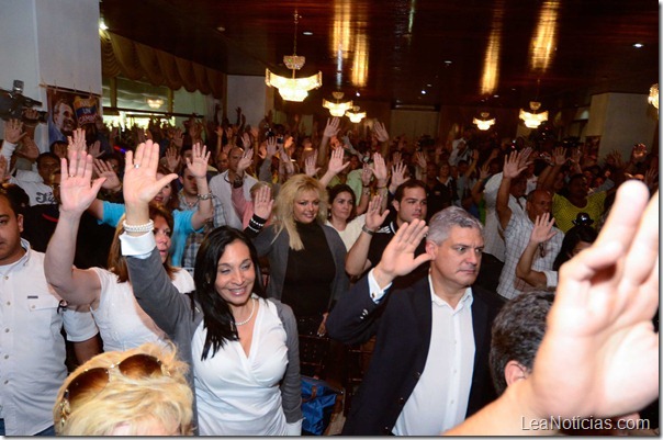
[[[531,370],[553,298],[551,292],[521,293],[507,302],[495,317],[488,362],[497,395],[506,390],[504,369],[509,361]]]

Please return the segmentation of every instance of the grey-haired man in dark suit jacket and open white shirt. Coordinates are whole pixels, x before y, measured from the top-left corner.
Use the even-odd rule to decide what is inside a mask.
[[[426,253],[415,257],[426,234]],[[378,335],[344,435],[437,435],[496,397],[488,352],[503,302],[472,286],[482,250],[481,223],[462,208],[440,211],[430,228],[414,219],[332,311],[332,338],[357,343]],[[426,261],[426,279],[389,292]]]

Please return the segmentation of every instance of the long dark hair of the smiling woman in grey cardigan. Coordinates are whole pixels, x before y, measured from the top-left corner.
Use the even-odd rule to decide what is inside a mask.
[[[239,339],[231,307],[216,292],[216,287],[214,286],[218,260],[225,252],[226,247],[235,241],[246,245],[251,256],[251,262],[256,272],[252,293],[266,297],[258,252],[251,240],[241,230],[229,226],[221,226],[212,230],[198,250],[195,270],[193,271],[193,281],[195,282],[194,298],[202,308],[204,326],[207,329],[201,360],[207,359],[210,348],[212,348],[212,356],[214,356],[226,341]]]

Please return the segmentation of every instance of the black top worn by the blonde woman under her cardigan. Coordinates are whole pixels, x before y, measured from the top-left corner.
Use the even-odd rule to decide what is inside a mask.
[[[321,315],[329,306],[336,266],[322,226],[317,222],[295,225],[304,249],[288,252],[281,301],[297,318]]]

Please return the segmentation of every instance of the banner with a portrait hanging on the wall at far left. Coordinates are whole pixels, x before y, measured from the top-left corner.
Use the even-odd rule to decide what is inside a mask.
[[[86,137],[97,136],[95,122],[101,117],[101,97],[89,92],[47,87],[48,145],[67,142],[76,128],[85,128]]]

